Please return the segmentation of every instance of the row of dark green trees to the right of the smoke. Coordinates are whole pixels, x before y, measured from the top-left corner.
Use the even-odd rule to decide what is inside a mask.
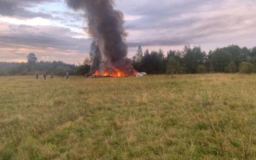
[[[201,46],[184,46],[183,50],[162,49],[143,53],[141,46],[132,58],[133,67],[147,74],[252,73],[256,71],[256,46],[252,49],[229,45],[206,53]]]

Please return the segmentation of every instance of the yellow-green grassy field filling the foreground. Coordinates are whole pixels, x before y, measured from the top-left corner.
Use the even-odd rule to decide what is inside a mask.
[[[0,77],[0,159],[256,159],[256,75]]]

